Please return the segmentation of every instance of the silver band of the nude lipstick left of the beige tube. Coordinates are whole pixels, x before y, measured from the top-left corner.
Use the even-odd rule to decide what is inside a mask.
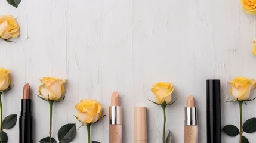
[[[109,107],[109,123],[111,125],[122,124],[122,108],[121,106]]]

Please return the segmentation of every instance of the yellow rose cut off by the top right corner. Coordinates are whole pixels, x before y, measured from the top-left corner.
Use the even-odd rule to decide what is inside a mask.
[[[255,0],[240,0],[242,9],[245,13],[256,14],[256,1]]]

